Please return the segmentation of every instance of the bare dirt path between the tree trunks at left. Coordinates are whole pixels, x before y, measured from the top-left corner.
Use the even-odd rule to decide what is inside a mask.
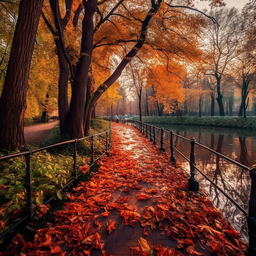
[[[48,132],[56,125],[58,122],[49,122],[45,124],[37,124],[33,126],[24,127],[25,141],[28,145],[38,144],[42,142],[46,137]]]

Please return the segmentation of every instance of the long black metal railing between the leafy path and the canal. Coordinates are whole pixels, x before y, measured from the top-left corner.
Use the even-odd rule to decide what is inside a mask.
[[[140,132],[142,132],[147,138],[150,137],[150,141],[153,141],[153,144],[157,144],[156,141],[158,140],[161,147],[159,150],[165,151],[164,145],[170,147],[171,151],[171,158],[170,162],[173,164],[176,163],[176,157],[175,152],[177,152],[179,155],[184,157],[187,162],[189,162],[190,165],[190,177],[188,180],[188,186],[189,190],[194,191],[195,193],[199,192],[199,182],[195,178],[196,171],[198,171],[205,179],[207,179],[218,191],[220,191],[230,202],[232,202],[247,218],[247,227],[248,227],[248,235],[249,235],[249,243],[247,244],[247,248],[245,249],[245,255],[248,256],[256,256],[256,166],[247,167],[243,164],[240,164],[239,162],[234,161],[233,159],[222,155],[221,153],[212,150],[211,148],[208,148],[207,146],[204,146],[198,142],[196,142],[195,138],[187,139],[185,137],[182,137],[178,134],[175,134],[173,130],[167,131],[163,128],[158,128],[150,124],[146,124],[137,120],[124,120],[123,123],[127,123],[131,126],[134,126],[137,128]],[[161,137],[158,138],[155,135],[155,130],[161,131]],[[163,132],[170,133],[170,144],[166,143],[163,140]],[[191,144],[191,153],[190,153],[190,159],[188,159],[185,155],[183,155],[177,148],[174,146],[174,136],[179,137],[181,139],[184,139],[186,141],[190,141]],[[249,176],[251,178],[251,190],[249,195],[249,201],[248,201],[248,211],[243,209],[233,198],[231,198],[225,191],[223,191],[215,182],[213,182],[207,175],[205,175],[197,166],[196,166],[196,155],[195,155],[195,145],[198,145],[209,152],[222,157],[223,159],[229,161],[231,164],[234,164],[238,166],[239,168],[248,171]]]

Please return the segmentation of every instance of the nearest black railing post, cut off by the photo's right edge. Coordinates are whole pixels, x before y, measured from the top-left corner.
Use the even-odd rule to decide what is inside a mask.
[[[252,180],[251,192],[248,202],[248,212],[247,212],[247,226],[249,243],[247,244],[247,249],[245,250],[245,255],[255,256],[256,255],[256,166],[249,168],[249,175]]]

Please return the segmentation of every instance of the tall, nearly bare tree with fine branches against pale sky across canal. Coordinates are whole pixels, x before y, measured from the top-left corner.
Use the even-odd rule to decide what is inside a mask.
[[[205,52],[208,56],[209,72],[208,75],[216,79],[217,102],[220,110],[220,116],[224,116],[224,107],[222,102],[222,90],[220,82],[225,74],[228,65],[234,60],[237,54],[237,46],[240,39],[240,17],[236,8],[221,8],[210,12],[218,22],[215,24],[209,22],[208,44],[205,46]]]

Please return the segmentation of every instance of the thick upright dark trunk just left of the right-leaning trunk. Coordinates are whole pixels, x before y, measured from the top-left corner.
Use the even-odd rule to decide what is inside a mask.
[[[85,109],[86,83],[88,70],[92,59],[93,47],[93,16],[97,7],[97,0],[83,0],[85,14],[83,18],[81,56],[76,66],[76,74],[70,101],[70,110],[65,120],[65,132],[72,138],[82,138],[83,120]],[[94,102],[95,104],[96,102]],[[93,105],[94,105],[93,104]],[[92,109],[89,108],[88,115],[91,115]],[[89,113],[90,111],[90,113]],[[85,125],[86,126],[86,125]]]

